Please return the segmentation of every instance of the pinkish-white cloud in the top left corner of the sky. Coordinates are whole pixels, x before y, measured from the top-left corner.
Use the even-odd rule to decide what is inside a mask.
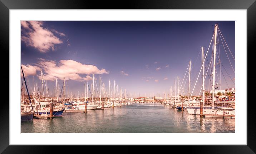
[[[43,28],[43,21],[21,21],[21,26],[24,27],[21,41],[38,49],[41,53],[54,50],[56,44],[63,43],[51,31]]]

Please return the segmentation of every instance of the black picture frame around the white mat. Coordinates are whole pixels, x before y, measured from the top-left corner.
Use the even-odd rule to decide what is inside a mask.
[[[7,90],[9,79],[9,10],[10,9],[246,9],[247,10],[247,54],[255,53],[254,43],[256,38],[256,2],[255,0],[129,0],[129,1],[89,1],[89,0],[0,0],[0,48],[6,62],[2,60],[1,72],[5,72],[1,86]],[[248,52],[250,51],[250,52]],[[245,53],[246,54],[246,53]],[[8,59],[7,59],[8,57]],[[248,56],[248,61],[255,56]],[[9,63],[8,63],[9,64]],[[252,67],[249,66],[248,67]],[[5,70],[3,70],[5,69]],[[8,72],[8,73],[7,73]],[[249,81],[255,77],[248,76]],[[254,81],[255,82],[255,81]],[[11,91],[9,91],[10,93]],[[7,98],[7,97],[6,97]],[[4,99],[6,99],[4,98]],[[8,98],[9,102],[9,98]],[[254,103],[245,102],[247,106]],[[249,103],[249,104],[248,104]],[[180,149],[182,153],[256,153],[256,132],[254,123],[254,108],[247,108],[247,145],[205,145],[205,146],[173,146],[171,148]],[[1,124],[0,124],[0,152],[3,153],[62,153],[75,149],[85,151],[84,146],[14,146],[9,145],[9,104],[1,102]],[[33,140],[33,139],[32,139]],[[227,140],[228,144],[228,140]],[[152,149],[149,146],[147,149]],[[79,149],[79,150],[78,150]],[[105,148],[97,148],[97,152]],[[108,148],[109,149],[109,148]],[[129,149],[129,148],[127,148]],[[170,148],[168,148],[170,149]],[[110,149],[111,150],[111,147]],[[86,150],[90,152],[90,150]],[[93,150],[92,150],[93,151]],[[128,150],[129,151],[129,150]]]

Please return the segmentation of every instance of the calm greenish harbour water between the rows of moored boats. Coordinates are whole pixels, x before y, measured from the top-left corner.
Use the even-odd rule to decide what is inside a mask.
[[[21,121],[21,133],[235,133],[235,119],[201,118],[160,103]]]

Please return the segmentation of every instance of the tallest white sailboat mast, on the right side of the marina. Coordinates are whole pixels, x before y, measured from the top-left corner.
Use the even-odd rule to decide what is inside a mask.
[[[213,47],[213,71],[212,71],[212,109],[214,109],[214,100],[215,100],[215,63],[216,63],[217,29],[218,29],[218,25],[215,24],[214,47]]]

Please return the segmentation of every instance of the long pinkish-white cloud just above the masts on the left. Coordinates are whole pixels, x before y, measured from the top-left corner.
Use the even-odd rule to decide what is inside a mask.
[[[37,70],[43,69],[45,80],[55,80],[55,78],[76,81],[88,81],[92,80],[91,74],[108,74],[105,69],[98,69],[94,65],[86,65],[74,60],[60,60],[58,64],[53,60],[39,59],[39,62],[35,64]],[[39,68],[40,67],[40,68]],[[35,72],[33,72],[35,74]],[[81,75],[86,75],[85,77]],[[41,79],[41,75],[38,75]]]

